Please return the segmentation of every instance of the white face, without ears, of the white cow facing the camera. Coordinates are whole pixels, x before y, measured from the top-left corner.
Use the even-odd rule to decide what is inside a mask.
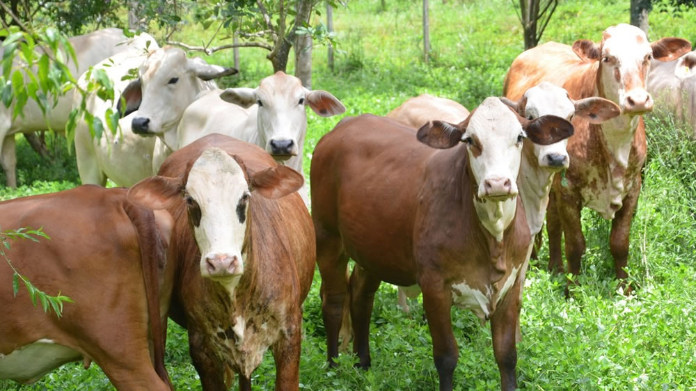
[[[260,145],[276,159],[300,154],[307,129],[306,93],[296,77],[274,74],[256,89]]]

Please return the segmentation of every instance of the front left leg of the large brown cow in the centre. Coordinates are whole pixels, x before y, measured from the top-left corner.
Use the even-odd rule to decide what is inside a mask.
[[[430,271],[429,274],[433,276],[419,278],[418,285],[423,292],[423,309],[433,340],[433,358],[440,378],[440,391],[450,391],[452,374],[459,358],[457,340],[452,333],[452,293],[445,289],[445,282],[437,272]]]

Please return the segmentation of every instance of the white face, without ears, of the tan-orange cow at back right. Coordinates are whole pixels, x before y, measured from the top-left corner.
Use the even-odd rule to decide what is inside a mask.
[[[650,42],[638,27],[618,24],[604,31],[600,83],[604,96],[622,113],[651,111],[652,97],[645,89],[651,58]]]

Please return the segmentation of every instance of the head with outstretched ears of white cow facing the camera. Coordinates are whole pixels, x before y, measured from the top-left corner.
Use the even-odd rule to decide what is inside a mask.
[[[245,109],[258,105],[258,145],[276,160],[301,154],[307,131],[306,105],[322,117],[346,111],[340,100],[330,93],[310,91],[302,86],[300,79],[280,71],[263,79],[257,88],[228,88],[220,97]]]

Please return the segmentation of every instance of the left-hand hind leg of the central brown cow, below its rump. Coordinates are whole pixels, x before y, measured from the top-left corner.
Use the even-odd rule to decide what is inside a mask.
[[[348,293],[345,277],[348,257],[342,252],[341,239],[319,228],[315,223],[317,235],[317,265],[322,275],[322,317],[326,329],[326,360],[335,366],[333,358],[338,357],[338,333],[341,328],[343,309]]]

